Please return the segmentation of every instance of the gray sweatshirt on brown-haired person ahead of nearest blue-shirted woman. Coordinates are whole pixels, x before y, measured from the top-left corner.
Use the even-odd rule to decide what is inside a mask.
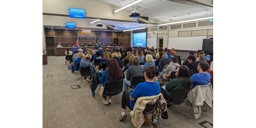
[[[132,77],[144,76],[143,68],[141,65],[132,65],[128,68],[126,79],[130,80],[132,84]]]

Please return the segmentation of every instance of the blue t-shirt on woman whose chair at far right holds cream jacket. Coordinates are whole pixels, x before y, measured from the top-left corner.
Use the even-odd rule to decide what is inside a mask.
[[[193,82],[193,88],[196,87],[196,85],[206,85],[210,83],[212,76],[210,73],[196,73],[191,76],[191,81]],[[192,88],[192,89],[193,89]]]

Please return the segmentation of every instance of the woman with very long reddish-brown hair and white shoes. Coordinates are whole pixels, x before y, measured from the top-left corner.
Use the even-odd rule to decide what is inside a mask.
[[[108,69],[106,69],[101,76],[101,83],[103,84],[102,86],[104,87],[106,82],[115,82],[122,79],[123,73],[122,70],[119,68],[117,60],[110,59]],[[121,91],[122,90],[120,89],[120,92]],[[106,94],[108,93],[106,92]],[[111,96],[108,97],[108,100],[106,96],[103,96],[103,104],[107,105],[108,103],[111,103]]]

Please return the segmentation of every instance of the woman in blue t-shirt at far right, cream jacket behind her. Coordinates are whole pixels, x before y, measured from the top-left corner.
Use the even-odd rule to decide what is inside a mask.
[[[201,61],[197,65],[197,70],[199,73],[196,73],[191,76],[191,81],[193,82],[193,88],[195,88],[197,85],[206,85],[210,83],[211,75],[207,71],[210,69],[208,62]]]

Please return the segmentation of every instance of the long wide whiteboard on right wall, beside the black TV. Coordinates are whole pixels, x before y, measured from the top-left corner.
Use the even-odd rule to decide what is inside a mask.
[[[170,37],[168,48],[193,51],[202,50],[203,39],[206,38],[206,36]]]

